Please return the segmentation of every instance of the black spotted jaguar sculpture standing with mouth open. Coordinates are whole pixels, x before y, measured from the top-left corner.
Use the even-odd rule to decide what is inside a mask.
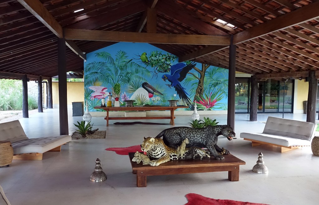
[[[223,160],[222,149],[217,145],[218,136],[223,135],[228,140],[236,139],[233,128],[228,125],[207,126],[205,128],[174,127],[163,130],[155,138],[163,137],[164,143],[177,148],[186,138],[189,143],[186,147],[205,147],[217,160]],[[230,154],[225,150],[225,154]]]

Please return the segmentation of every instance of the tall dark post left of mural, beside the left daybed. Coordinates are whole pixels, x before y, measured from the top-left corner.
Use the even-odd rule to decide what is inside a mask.
[[[65,47],[65,39],[58,38],[60,135],[69,135]]]

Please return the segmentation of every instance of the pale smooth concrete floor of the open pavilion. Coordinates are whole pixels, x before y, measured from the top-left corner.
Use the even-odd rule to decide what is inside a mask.
[[[72,117],[69,130],[81,117]],[[58,109],[20,119],[29,138],[59,135]],[[128,156],[106,151],[109,147],[140,144],[144,136],[155,136],[170,125],[113,125],[106,127],[103,117],[93,117],[94,128],[107,130],[106,139],[73,140],[61,152],[47,152],[41,161],[13,160],[10,167],[0,169],[0,185],[12,205],[50,204],[185,204],[185,194],[196,193],[215,199],[231,199],[271,205],[317,205],[319,201],[319,157],[310,147],[279,153],[266,145],[251,147],[239,138],[241,132],[262,132],[268,116],[259,114],[258,122],[249,122],[249,115],[235,116],[237,139],[220,137],[218,145],[246,161],[241,165],[240,181],[230,182],[227,172],[166,175],[147,177],[147,187],[136,187]],[[219,124],[226,124],[226,115],[214,115]],[[206,116],[206,117],[207,117]],[[285,114],[285,118],[305,120],[304,114]],[[176,116],[175,126],[188,126],[189,116]],[[153,120],[152,122],[168,120]],[[113,123],[115,121],[110,121]],[[258,153],[263,152],[269,174],[251,171]],[[89,177],[100,158],[108,179],[94,183]]]

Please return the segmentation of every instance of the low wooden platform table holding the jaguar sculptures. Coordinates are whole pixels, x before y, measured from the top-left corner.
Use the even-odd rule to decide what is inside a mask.
[[[239,165],[246,162],[229,154],[224,155],[224,160],[216,160],[214,157],[204,160],[171,160],[159,166],[142,165],[132,162],[133,152],[129,153],[133,174],[137,174],[137,187],[146,187],[146,176],[189,174],[202,172],[225,172],[228,171],[230,181],[239,181]]]

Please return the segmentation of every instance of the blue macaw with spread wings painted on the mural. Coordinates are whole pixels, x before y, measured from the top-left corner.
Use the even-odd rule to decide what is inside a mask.
[[[180,99],[183,99],[189,107],[192,107],[192,101],[187,95],[189,95],[183,88],[180,82],[182,82],[187,73],[196,66],[196,63],[190,63],[186,65],[185,63],[177,63],[171,66],[171,75],[165,74],[162,76],[164,81],[168,80],[171,84],[166,84],[168,87],[174,87]]]

